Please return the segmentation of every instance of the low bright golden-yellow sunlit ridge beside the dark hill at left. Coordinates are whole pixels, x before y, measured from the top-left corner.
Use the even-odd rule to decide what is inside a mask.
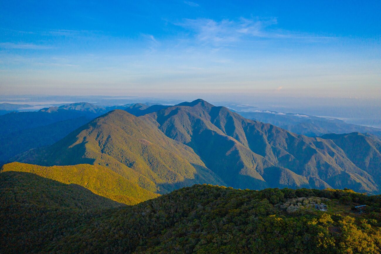
[[[128,205],[158,196],[131,183],[109,168],[99,165],[43,167],[13,162],[5,164],[1,170],[32,173],[61,183],[80,185],[94,194]]]

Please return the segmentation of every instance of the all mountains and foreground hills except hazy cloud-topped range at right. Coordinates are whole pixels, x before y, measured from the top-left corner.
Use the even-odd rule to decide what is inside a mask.
[[[0,253],[381,251],[376,135],[307,137],[201,99],[0,120]]]

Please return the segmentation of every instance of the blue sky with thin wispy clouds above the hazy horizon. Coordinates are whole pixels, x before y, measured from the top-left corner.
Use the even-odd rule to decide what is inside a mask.
[[[380,1],[1,1],[1,93],[381,98],[379,13]]]

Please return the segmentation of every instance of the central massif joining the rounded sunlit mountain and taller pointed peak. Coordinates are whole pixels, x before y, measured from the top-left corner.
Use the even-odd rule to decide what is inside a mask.
[[[380,140],[361,133],[346,137],[297,135],[195,100],[140,117],[111,111],[15,159],[42,166],[98,164],[156,193],[194,183],[379,193]]]

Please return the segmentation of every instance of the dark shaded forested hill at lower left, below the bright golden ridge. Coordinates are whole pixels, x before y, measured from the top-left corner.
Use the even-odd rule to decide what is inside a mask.
[[[0,173],[0,193],[0,253],[31,253],[69,228],[122,206],[80,185],[26,172]]]

